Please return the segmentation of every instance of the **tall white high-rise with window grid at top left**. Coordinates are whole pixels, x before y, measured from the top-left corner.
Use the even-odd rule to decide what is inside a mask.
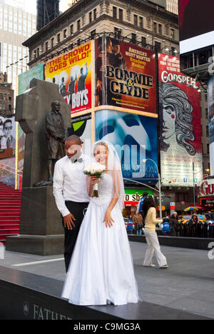
[[[23,2],[11,6],[0,1],[0,70],[6,71],[15,92],[17,76],[28,69],[28,50],[22,43],[36,32],[36,16],[24,11]]]

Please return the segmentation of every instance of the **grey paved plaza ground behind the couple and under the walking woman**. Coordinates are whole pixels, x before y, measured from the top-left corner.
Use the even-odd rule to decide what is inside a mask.
[[[209,260],[208,251],[165,246],[161,249],[170,268],[143,268],[146,244],[131,243],[140,298],[214,318],[214,260]],[[41,257],[6,252],[0,265],[56,280],[66,277],[63,255]]]

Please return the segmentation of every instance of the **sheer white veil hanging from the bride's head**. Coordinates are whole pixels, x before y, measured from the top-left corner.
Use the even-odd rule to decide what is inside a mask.
[[[92,146],[93,159],[96,147],[102,144],[108,147],[108,173],[113,177],[115,191],[114,196],[115,198],[118,198],[118,204],[122,211],[124,208],[125,190],[123,183],[123,174],[121,170],[121,161],[112,143],[102,140],[96,141],[96,143],[94,143]]]

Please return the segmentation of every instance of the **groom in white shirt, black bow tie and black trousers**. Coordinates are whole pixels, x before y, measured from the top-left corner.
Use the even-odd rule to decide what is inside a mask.
[[[64,257],[68,272],[78,232],[90,201],[83,170],[90,165],[91,159],[82,153],[81,138],[78,136],[67,138],[65,146],[66,156],[56,162],[54,169],[54,197],[63,217]]]

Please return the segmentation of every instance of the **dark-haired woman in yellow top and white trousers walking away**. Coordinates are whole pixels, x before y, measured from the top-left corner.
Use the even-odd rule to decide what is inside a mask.
[[[160,268],[168,268],[165,256],[161,253],[161,247],[156,233],[156,224],[163,223],[159,218],[156,218],[156,207],[152,196],[148,196],[143,201],[143,216],[145,217],[145,236],[148,248],[146,257],[143,263],[144,267],[154,267],[152,263],[153,254],[156,254],[156,259]]]

